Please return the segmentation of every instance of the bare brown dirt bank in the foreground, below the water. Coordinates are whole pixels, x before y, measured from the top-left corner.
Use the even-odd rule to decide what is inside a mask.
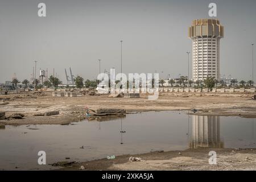
[[[209,164],[209,151],[216,151],[217,164]],[[130,156],[141,158],[129,161]],[[205,148],[186,151],[150,152],[140,155],[122,155],[115,159],[100,159],[76,163],[62,170],[256,170],[256,149]]]

